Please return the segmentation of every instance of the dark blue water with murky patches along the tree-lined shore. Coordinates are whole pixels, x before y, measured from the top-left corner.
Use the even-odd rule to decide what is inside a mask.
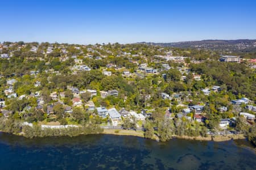
[[[256,169],[246,141],[161,143],[115,135],[26,139],[0,133],[0,169]]]

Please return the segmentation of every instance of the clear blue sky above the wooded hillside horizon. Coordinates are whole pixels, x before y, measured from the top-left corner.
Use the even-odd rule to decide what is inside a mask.
[[[3,0],[0,41],[256,39],[255,0]]]

